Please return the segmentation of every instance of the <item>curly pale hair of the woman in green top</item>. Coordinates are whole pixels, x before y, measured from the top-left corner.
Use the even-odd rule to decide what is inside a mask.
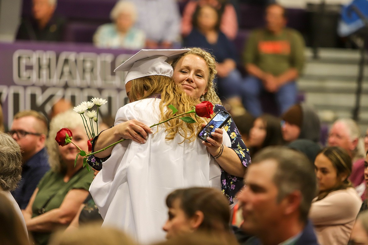
[[[49,153],[49,164],[54,172],[61,172],[61,157],[59,154],[59,145],[55,137],[56,133],[62,128],[73,129],[76,127],[84,128],[83,120],[77,112],[68,110],[57,114],[50,122],[49,137],[46,140],[47,152]],[[91,138],[91,136],[89,136]]]

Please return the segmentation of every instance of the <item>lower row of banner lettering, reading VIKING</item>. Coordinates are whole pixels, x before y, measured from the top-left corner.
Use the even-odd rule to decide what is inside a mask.
[[[90,100],[91,97],[100,97],[108,101],[108,103],[100,107],[101,115],[115,115],[117,110],[127,104],[127,96],[125,91],[116,89],[93,89],[93,88],[61,88],[49,87],[42,91],[38,86],[0,86],[0,100],[7,100],[7,125],[13,122],[14,115],[22,110],[35,110],[45,115],[49,115],[52,105],[60,98],[74,101],[79,104],[83,100]]]

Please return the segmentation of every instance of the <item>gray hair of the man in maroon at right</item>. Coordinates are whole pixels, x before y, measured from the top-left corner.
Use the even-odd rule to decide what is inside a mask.
[[[364,141],[361,137],[360,127],[358,126],[357,122],[355,122],[351,118],[340,118],[335,121],[335,123],[337,122],[340,122],[346,126],[351,141],[358,139],[357,146],[352,152],[353,162],[355,162],[357,159],[364,158],[365,157]]]

